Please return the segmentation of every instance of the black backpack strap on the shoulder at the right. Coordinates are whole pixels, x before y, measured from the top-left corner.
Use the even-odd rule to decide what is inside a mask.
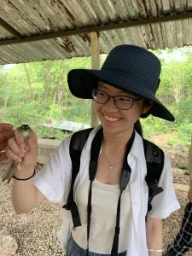
[[[163,189],[158,186],[164,166],[164,152],[154,143],[143,138],[144,154],[147,165],[145,181],[148,184],[148,212],[152,209],[151,201],[154,195],[160,194]]]

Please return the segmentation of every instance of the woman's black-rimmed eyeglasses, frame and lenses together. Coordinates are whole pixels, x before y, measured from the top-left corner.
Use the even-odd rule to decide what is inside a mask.
[[[132,108],[134,102],[141,100],[142,98],[133,99],[127,96],[110,96],[108,93],[102,90],[92,90],[93,100],[99,104],[105,104],[109,98],[113,98],[114,105],[122,110],[128,110]]]

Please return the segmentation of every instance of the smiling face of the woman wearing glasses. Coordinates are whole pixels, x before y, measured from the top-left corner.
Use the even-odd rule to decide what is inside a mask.
[[[102,90],[109,96],[127,96],[131,97],[132,99],[138,98],[138,96],[123,90],[119,90],[102,82],[99,83],[98,90]],[[132,132],[134,129],[134,124],[137,122],[137,119],[139,119],[141,113],[146,113],[148,112],[149,108],[151,108],[144,105],[142,98],[134,102],[132,107],[128,110],[117,108],[112,97],[109,97],[108,102],[105,104],[100,104],[98,102],[94,102],[94,104],[96,114],[101,121],[103,131],[112,134],[124,132],[127,134],[127,131]]]

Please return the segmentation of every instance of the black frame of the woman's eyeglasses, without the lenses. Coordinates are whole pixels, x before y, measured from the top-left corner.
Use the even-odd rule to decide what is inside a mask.
[[[96,101],[96,94],[97,94],[98,92],[100,92],[100,91],[101,91],[104,95],[108,96],[106,102],[102,102],[102,103],[101,103],[101,102],[97,102],[97,101]],[[95,102],[99,103],[99,104],[102,104],[102,105],[106,104],[106,103],[108,102],[109,98],[113,98],[113,104],[114,104],[115,107],[117,107],[117,108],[119,108],[119,106],[117,105],[117,102],[115,101],[115,98],[117,98],[117,97],[124,97],[124,98],[127,98],[128,100],[131,100],[131,107],[129,107],[129,108],[119,108],[119,109],[121,109],[121,110],[129,110],[129,109],[132,108],[134,102],[137,102],[137,101],[143,99],[142,97],[137,98],[137,99],[134,99],[134,98],[131,98],[131,97],[128,97],[128,96],[119,96],[119,95],[117,95],[117,96],[110,96],[107,92],[105,92],[105,91],[103,91],[103,90],[98,90],[98,89],[92,90],[91,94],[92,94],[93,100],[94,100]]]

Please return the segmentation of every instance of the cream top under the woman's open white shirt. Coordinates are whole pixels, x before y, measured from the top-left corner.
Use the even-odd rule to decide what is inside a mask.
[[[72,230],[73,239],[86,249],[87,247],[87,201],[90,180],[87,176],[77,190],[77,206],[81,226]],[[119,200],[119,184],[105,184],[94,180],[92,184],[92,213],[90,219],[89,249],[93,253],[110,254],[113,244],[116,212]],[[129,185],[121,195],[119,219],[119,253],[127,250],[125,237],[130,236],[127,226],[130,223],[131,198]]]

